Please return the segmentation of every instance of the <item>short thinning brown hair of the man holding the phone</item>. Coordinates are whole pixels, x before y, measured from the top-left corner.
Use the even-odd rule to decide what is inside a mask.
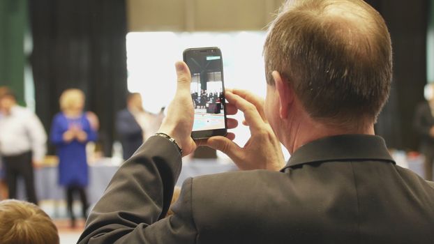
[[[264,59],[267,83],[274,85],[277,70],[322,123],[373,123],[389,96],[389,31],[362,0],[287,1],[269,28]]]

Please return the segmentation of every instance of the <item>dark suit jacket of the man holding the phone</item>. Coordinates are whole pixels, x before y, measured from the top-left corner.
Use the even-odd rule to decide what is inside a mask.
[[[299,148],[281,171],[189,178],[164,218],[181,155],[147,140],[117,171],[80,243],[434,243],[434,185],[384,141],[342,135]]]

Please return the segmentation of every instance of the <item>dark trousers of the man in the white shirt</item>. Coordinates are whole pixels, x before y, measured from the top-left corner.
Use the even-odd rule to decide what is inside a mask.
[[[33,204],[38,204],[35,192],[35,183],[33,181],[31,152],[3,157],[3,160],[6,168],[6,183],[8,184],[9,198],[17,198],[17,180],[18,176],[22,176],[26,187],[27,201],[30,201]]]

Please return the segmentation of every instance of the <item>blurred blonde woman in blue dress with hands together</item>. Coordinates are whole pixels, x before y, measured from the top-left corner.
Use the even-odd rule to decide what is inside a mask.
[[[67,89],[60,96],[61,112],[54,116],[50,141],[57,147],[59,156],[59,184],[66,188],[66,204],[71,226],[75,227],[73,196],[77,192],[82,201],[82,215],[87,218],[89,184],[86,144],[96,140],[96,131],[84,109],[84,93]]]

